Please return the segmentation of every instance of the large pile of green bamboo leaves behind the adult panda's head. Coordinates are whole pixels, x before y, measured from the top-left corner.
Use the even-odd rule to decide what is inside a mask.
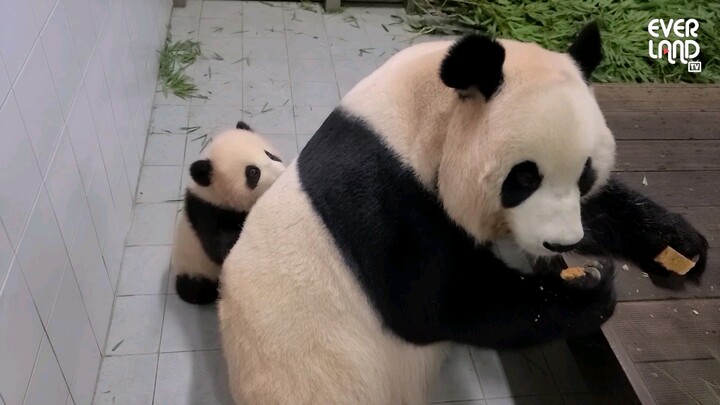
[[[420,16],[408,19],[420,33],[485,32],[565,51],[591,19],[600,23],[605,59],[598,82],[720,83],[720,2],[706,0],[416,0]],[[648,55],[653,18],[695,18],[702,73]],[[672,40],[672,37],[670,38]]]

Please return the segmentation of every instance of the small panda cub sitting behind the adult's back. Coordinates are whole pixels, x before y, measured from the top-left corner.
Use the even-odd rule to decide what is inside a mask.
[[[171,258],[181,299],[217,300],[222,263],[248,211],[284,170],[276,149],[242,121],[215,136],[193,162]]]

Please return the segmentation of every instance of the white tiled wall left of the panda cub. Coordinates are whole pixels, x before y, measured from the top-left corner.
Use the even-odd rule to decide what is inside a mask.
[[[170,10],[0,1],[2,405],[92,402]]]

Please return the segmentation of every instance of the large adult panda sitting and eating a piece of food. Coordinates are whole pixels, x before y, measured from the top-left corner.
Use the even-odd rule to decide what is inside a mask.
[[[600,60],[594,24],[565,54],[468,35],[411,46],[358,83],[223,266],[234,399],[423,404],[444,342],[522,347],[613,313],[609,262],[577,288],[510,268],[492,250],[502,238],[539,257],[650,268],[672,245],[704,262],[696,230],[611,177],[614,139],[587,84]]]

